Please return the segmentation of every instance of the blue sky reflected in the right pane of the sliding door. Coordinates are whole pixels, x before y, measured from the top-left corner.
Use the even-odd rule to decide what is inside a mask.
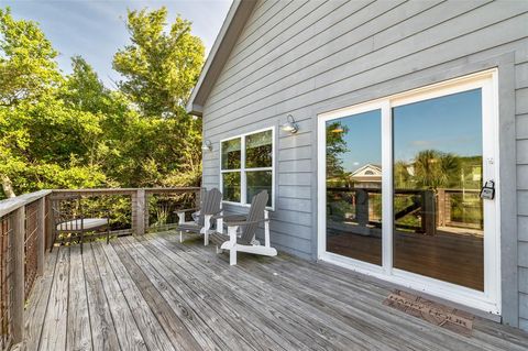
[[[393,109],[394,160],[410,162],[422,150],[482,155],[481,89]]]

